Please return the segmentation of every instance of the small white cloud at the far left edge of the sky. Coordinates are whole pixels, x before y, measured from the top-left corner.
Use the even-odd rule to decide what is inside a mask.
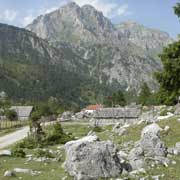
[[[17,17],[17,12],[11,9],[5,9],[4,11],[0,12],[0,20],[1,21],[8,21],[12,22]]]

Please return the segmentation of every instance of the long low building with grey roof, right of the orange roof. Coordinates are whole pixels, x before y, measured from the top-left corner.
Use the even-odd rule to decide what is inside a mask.
[[[95,125],[133,124],[139,121],[140,115],[138,107],[101,108],[95,111],[91,122]]]

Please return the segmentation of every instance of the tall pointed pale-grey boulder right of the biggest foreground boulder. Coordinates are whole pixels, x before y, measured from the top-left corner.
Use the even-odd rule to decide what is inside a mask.
[[[140,141],[136,143],[128,157],[132,169],[144,168],[146,159],[159,161],[161,164],[168,162],[167,148],[160,139],[161,130],[155,123],[142,130]]]

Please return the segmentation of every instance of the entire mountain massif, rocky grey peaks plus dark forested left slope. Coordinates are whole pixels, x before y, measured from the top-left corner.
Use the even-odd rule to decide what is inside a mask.
[[[156,90],[158,54],[172,39],[136,28],[117,28],[94,7],[75,3],[39,16],[28,30],[0,24],[0,90],[75,104],[102,103],[119,89],[137,93],[143,82]]]

